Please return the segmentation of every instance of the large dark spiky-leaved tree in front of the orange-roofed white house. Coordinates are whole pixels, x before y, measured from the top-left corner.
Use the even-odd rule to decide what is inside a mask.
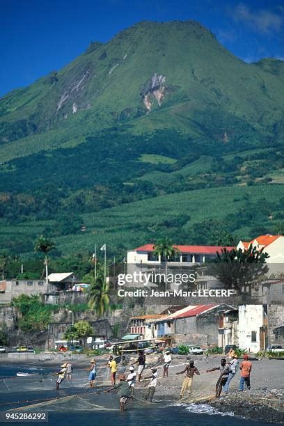
[[[241,248],[230,251],[222,248],[209,266],[209,273],[219,278],[226,288],[235,289],[240,294],[242,287],[267,274],[267,258],[269,255],[263,252],[263,248],[258,251],[252,244],[244,251]]]

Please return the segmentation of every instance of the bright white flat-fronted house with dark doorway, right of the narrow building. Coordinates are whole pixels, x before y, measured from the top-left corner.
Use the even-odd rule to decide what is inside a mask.
[[[238,336],[239,347],[257,353],[268,344],[267,305],[240,305]]]

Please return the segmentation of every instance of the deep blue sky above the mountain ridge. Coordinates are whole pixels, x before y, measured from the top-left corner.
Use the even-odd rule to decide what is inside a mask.
[[[284,0],[0,0],[0,96],[145,19],[194,19],[244,61],[284,60]]]

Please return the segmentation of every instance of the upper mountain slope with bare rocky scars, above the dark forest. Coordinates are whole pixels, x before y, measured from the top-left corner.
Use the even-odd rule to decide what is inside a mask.
[[[231,143],[240,132],[283,139],[283,90],[281,61],[246,64],[196,22],[142,22],[3,97],[1,149],[10,145],[10,159],[124,123]]]

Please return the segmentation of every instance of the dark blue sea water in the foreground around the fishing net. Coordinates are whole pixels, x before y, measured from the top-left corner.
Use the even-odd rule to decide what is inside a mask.
[[[54,372],[54,368],[36,368],[26,366],[17,368],[15,365],[0,366],[0,377],[15,377],[16,373],[21,372],[37,372],[39,374],[48,374]],[[86,392],[86,389],[64,388],[58,392],[52,390],[33,390],[29,392],[21,392],[17,389],[15,392],[0,393],[0,411],[19,407],[24,404],[13,404],[17,401],[36,400],[44,398],[56,398],[58,396],[74,395],[74,393]],[[118,408],[118,400],[116,407]],[[124,413],[120,411],[95,411],[95,412],[74,412],[68,411],[48,412],[48,425],[104,425],[120,426],[120,425],[136,425],[136,426],[167,426],[167,425],[190,425],[190,426],[264,426],[269,423],[261,423],[252,420],[245,420],[233,416],[232,413],[219,413],[207,404],[180,404],[173,402],[164,407],[164,404],[147,404],[145,407],[128,407]],[[23,423],[24,424],[24,423]]]

